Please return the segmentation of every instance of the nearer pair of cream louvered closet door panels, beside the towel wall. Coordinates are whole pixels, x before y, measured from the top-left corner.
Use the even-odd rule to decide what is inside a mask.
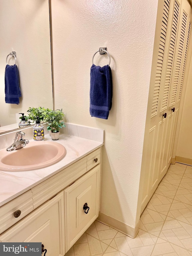
[[[163,114],[166,113],[170,92],[180,7],[181,0],[159,0],[158,2],[145,132],[148,139],[144,142],[147,153],[141,212],[158,186],[159,174],[167,168],[164,161],[167,119]]]

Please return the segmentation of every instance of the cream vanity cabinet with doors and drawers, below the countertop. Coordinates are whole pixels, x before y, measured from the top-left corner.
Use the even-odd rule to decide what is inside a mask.
[[[1,206],[0,216],[9,214],[0,223],[0,242],[41,242],[46,256],[63,256],[98,217],[100,161],[99,148],[20,195],[26,199],[21,220],[14,218],[19,197]]]

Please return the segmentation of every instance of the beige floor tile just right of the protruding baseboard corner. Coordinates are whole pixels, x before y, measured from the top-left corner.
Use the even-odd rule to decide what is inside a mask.
[[[140,218],[140,229],[158,236],[165,219],[166,215],[146,208]]]

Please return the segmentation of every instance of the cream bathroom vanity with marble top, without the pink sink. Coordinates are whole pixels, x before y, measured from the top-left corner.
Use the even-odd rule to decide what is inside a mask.
[[[41,242],[46,256],[64,255],[98,217],[103,143],[65,134],[57,142],[67,151],[58,163],[0,171],[0,242]]]

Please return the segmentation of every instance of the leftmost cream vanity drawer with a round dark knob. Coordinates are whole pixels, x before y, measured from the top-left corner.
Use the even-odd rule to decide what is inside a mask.
[[[19,217],[15,217],[16,211],[20,210]],[[24,194],[16,197],[10,202],[0,207],[0,234],[16,222],[20,221],[33,210],[32,191],[29,190]]]

